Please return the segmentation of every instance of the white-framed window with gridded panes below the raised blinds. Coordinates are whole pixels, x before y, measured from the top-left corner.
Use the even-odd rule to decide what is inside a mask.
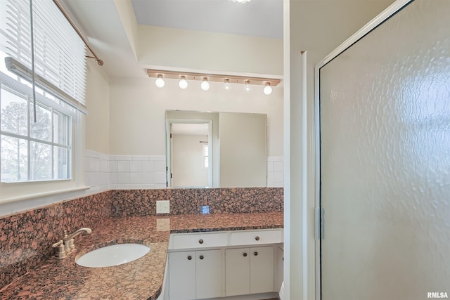
[[[49,93],[46,95],[51,96]],[[72,178],[74,112],[50,99],[39,100],[36,105],[37,122],[34,123],[30,87],[13,83],[1,73],[0,181],[3,183]]]

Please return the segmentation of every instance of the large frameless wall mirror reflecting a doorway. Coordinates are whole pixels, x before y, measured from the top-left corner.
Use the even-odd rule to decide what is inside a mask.
[[[167,186],[265,187],[266,129],[266,114],[167,110]]]

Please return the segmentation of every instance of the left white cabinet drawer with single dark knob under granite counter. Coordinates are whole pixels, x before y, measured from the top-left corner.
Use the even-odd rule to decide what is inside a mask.
[[[227,233],[187,233],[174,235],[174,249],[224,247]]]

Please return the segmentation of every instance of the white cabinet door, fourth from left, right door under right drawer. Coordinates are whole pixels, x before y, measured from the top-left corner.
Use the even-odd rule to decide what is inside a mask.
[[[250,293],[274,292],[274,247],[250,248]]]

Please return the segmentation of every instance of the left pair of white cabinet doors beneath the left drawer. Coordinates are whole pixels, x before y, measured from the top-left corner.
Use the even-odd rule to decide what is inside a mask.
[[[219,249],[169,253],[169,299],[220,297],[221,256]]]

